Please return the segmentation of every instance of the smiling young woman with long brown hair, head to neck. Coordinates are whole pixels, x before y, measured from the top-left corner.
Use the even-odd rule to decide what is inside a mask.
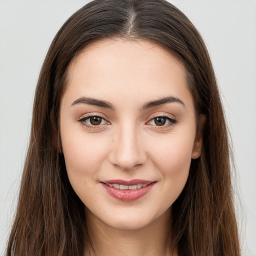
[[[206,47],[163,0],[95,0],[35,92],[7,255],[240,255]]]

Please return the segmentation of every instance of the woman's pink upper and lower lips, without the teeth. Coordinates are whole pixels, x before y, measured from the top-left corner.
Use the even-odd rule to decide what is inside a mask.
[[[132,180],[122,180],[122,179],[111,179],[104,180],[100,182],[102,186],[106,189],[109,195],[112,197],[119,199],[121,201],[134,201],[141,196],[145,195],[152,186],[155,184],[154,181],[143,180],[143,179],[132,179]],[[147,184],[145,187],[137,188],[137,189],[118,189],[115,187],[110,187],[107,184],[122,184],[122,185],[135,185],[135,184]]]

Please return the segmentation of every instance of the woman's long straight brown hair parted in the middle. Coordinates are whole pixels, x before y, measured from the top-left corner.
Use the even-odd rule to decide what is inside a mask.
[[[90,246],[84,205],[73,191],[60,150],[59,101],[70,60],[101,38],[144,39],[168,49],[186,68],[201,127],[201,156],[172,204],[171,230],[179,255],[240,255],[223,108],[203,40],[164,0],[94,0],[59,29],[42,65],[29,147],[7,255],[83,255]],[[199,123],[199,122],[198,122]]]

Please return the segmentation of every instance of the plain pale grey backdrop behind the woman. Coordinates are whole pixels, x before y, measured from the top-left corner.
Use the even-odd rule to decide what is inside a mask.
[[[85,2],[0,0],[0,255],[18,195],[40,66],[57,30]],[[195,24],[211,55],[234,147],[243,255],[256,256],[256,0],[170,2]]]

